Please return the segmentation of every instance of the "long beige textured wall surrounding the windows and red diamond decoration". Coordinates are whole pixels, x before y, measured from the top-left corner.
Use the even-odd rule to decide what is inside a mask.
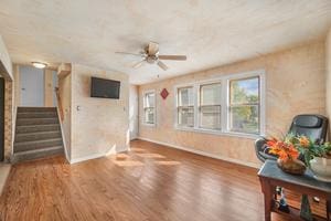
[[[286,133],[297,114],[325,114],[324,42],[273,53],[217,69],[188,74],[139,87],[139,136],[174,146],[203,151],[245,165],[258,166],[254,139],[226,135],[211,135],[175,130],[174,94],[177,84],[213,78],[224,74],[254,70],[266,71],[266,133],[280,136]],[[170,92],[163,101],[162,88]],[[157,126],[143,126],[142,93],[157,92]]]

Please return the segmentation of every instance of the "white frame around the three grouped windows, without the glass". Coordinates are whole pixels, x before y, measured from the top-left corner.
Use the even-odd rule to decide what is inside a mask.
[[[266,129],[266,80],[265,80],[265,71],[264,70],[256,70],[249,71],[244,73],[234,73],[227,75],[221,75],[218,77],[207,80],[207,81],[199,81],[188,84],[181,84],[174,86],[174,128],[178,130],[188,130],[188,131],[196,131],[196,133],[207,133],[214,135],[227,135],[227,136],[237,136],[237,137],[245,137],[245,138],[253,138],[256,139],[259,136],[265,136]],[[247,133],[237,133],[229,130],[229,81],[232,80],[242,80],[242,78],[249,78],[249,77],[259,77],[259,134],[247,134]],[[222,86],[222,95],[221,95],[221,130],[214,129],[205,129],[200,127],[200,114],[199,114],[199,105],[200,105],[200,86],[205,84],[213,84],[213,83],[221,83]],[[178,88],[193,86],[193,98],[194,98],[194,127],[182,127],[178,125]]]

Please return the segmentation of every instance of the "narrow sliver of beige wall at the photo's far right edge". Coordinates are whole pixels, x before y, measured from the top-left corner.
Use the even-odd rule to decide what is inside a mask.
[[[331,117],[331,29],[327,35],[325,41],[325,87],[327,87],[327,116]],[[329,140],[331,134],[331,124],[329,124]]]

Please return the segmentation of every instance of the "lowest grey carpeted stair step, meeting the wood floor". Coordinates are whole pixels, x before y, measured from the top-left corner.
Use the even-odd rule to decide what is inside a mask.
[[[17,164],[20,161],[33,160],[42,157],[56,156],[63,154],[64,154],[63,146],[54,146],[54,147],[46,147],[46,148],[28,150],[28,151],[20,151],[20,152],[15,152],[12,156],[11,162]]]

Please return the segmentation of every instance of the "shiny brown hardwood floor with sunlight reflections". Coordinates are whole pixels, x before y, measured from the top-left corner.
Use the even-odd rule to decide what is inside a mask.
[[[131,147],[75,165],[63,157],[14,165],[0,220],[264,220],[256,169],[141,140]],[[298,206],[299,196],[288,194]]]

